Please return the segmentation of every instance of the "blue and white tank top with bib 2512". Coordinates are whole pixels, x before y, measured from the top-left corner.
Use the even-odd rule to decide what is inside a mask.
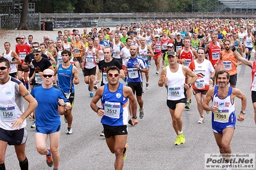
[[[111,92],[108,83],[104,85],[101,97],[102,109],[105,115],[101,118],[101,123],[109,126],[128,125],[128,98],[123,96],[123,83],[119,82],[117,91]]]

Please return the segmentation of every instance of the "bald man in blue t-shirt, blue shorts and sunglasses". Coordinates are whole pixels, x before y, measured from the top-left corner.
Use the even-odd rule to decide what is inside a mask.
[[[46,69],[43,72],[43,83],[34,87],[31,95],[36,98],[38,106],[35,109],[35,146],[40,155],[46,155],[46,163],[49,167],[58,170],[60,164],[60,153],[58,144],[60,142],[61,121],[60,114],[64,114],[65,109],[71,109],[71,104],[65,98],[64,93],[53,86],[55,76],[54,71]],[[47,100],[46,100],[47,98]],[[46,148],[46,141],[49,135],[50,148]],[[40,169],[38,167],[38,169]],[[41,168],[42,169],[42,168]]]

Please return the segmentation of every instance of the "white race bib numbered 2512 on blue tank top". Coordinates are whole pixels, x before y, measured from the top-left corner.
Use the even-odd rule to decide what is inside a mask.
[[[105,116],[108,116],[110,118],[119,119],[120,108],[121,108],[120,103],[105,102],[105,104],[104,104]]]

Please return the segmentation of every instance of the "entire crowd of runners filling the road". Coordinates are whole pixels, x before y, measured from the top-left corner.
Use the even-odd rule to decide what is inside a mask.
[[[123,169],[128,124],[137,125],[137,116],[144,117],[142,94],[149,84],[157,83],[149,83],[152,64],[159,75],[158,86],[167,89],[175,145],[185,143],[182,112],[190,109],[194,95],[196,101],[192,104],[198,107],[198,123],[205,120],[204,110],[212,112],[212,130],[220,153],[231,153],[236,120],[234,98],[241,99],[237,120],[244,120],[246,109],[246,96],[235,88],[237,66],[243,63],[252,68],[256,111],[256,63],[250,61],[256,38],[254,20],[155,20],[122,24],[112,30],[101,27],[84,28],[83,33],[78,29],[58,31],[56,37],[42,37],[42,42],[35,42],[33,36],[20,35],[15,39],[17,44],[3,44],[0,92],[10,100],[0,100],[0,170],[5,169],[7,144],[15,146],[21,169],[28,169],[24,151],[27,117],[35,119],[31,128],[35,128],[38,153],[46,155],[48,166],[58,169],[60,115],[64,114],[67,123],[66,134],[73,134],[74,85],[81,83],[78,72],[83,72],[92,110],[102,117],[100,135],[105,136],[108,148],[115,154],[115,169]],[[51,100],[45,100],[46,94]],[[28,101],[26,110],[22,97]],[[101,105],[97,105],[100,99]],[[13,130],[17,134],[12,134]],[[225,160],[230,166],[228,158]]]

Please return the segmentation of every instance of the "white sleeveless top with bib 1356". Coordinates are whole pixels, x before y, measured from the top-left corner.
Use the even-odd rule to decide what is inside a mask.
[[[20,83],[17,79],[10,77],[6,84],[0,84],[0,128],[5,130],[15,130],[12,128],[12,123],[24,112],[24,100],[19,94]],[[26,124],[25,119],[21,128],[26,127]]]

